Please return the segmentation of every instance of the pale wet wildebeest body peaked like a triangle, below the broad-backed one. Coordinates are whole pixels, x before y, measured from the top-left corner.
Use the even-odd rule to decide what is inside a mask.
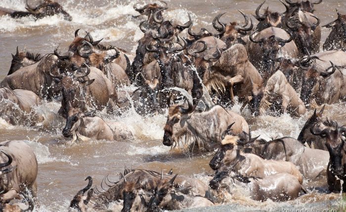
[[[292,116],[301,116],[306,112],[303,101],[280,70],[268,79],[263,93],[263,98],[259,104],[260,115],[264,115],[270,106],[276,102],[280,105],[281,113],[288,112]]]

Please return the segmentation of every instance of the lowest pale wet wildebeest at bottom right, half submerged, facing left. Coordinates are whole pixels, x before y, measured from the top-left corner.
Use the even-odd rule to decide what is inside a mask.
[[[216,172],[210,186],[217,189],[218,201],[227,201],[233,189],[240,186],[242,191],[249,190],[250,197],[257,201],[268,199],[275,202],[296,199],[303,190],[298,179],[288,173],[276,173],[265,177],[244,177],[234,171]]]

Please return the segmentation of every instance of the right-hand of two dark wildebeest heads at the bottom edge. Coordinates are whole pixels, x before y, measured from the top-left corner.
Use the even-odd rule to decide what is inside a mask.
[[[173,183],[177,174],[174,175],[171,179],[163,179],[158,182],[154,190],[154,195],[150,198],[148,205],[148,212],[154,212],[158,210],[160,203],[163,198],[171,192],[173,189]]]

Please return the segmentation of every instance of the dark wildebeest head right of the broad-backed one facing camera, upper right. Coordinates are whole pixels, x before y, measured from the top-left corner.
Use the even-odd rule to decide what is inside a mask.
[[[316,16],[312,17],[317,20],[317,23],[309,24],[306,22],[301,22],[298,16],[294,16],[291,19],[286,20],[286,26],[293,31],[295,43],[304,55],[308,55],[311,53],[312,33],[320,24],[319,18],[317,18]]]

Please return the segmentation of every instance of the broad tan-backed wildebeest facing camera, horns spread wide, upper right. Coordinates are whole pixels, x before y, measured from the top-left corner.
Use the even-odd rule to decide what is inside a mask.
[[[274,63],[270,58],[277,58],[278,54],[296,58],[298,48],[292,40],[290,32],[277,27],[269,27],[260,31],[255,37],[253,32],[249,38],[252,41],[249,46],[249,60],[259,70],[264,81],[274,71]]]

